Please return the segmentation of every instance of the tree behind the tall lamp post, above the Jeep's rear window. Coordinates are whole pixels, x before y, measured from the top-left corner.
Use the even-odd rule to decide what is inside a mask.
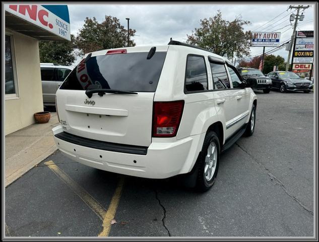
[[[129,46],[135,46],[132,37],[136,30],[130,29]],[[98,23],[96,18],[86,18],[79,35],[76,38],[78,48],[83,53],[89,53],[98,49],[111,49],[127,46],[127,30],[120,25],[119,19],[112,16],[105,16],[102,23]]]

